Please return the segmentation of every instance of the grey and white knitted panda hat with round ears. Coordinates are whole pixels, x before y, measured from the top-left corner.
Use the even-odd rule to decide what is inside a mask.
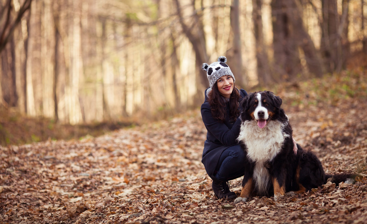
[[[210,88],[213,88],[214,84],[217,83],[218,78],[222,76],[230,76],[233,78],[233,82],[236,81],[235,76],[233,76],[233,73],[226,62],[227,58],[225,56],[220,56],[218,58],[218,62],[213,62],[210,65],[204,63],[201,66],[201,69],[207,72]]]

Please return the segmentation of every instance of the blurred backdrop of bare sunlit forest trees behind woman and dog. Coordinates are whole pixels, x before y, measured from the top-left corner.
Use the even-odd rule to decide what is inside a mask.
[[[0,107],[70,124],[199,106],[201,64],[249,88],[367,54],[366,0],[0,0]]]

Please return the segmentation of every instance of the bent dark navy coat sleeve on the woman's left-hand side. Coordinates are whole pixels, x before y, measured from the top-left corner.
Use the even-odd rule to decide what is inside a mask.
[[[227,125],[214,119],[211,115],[210,106],[206,103],[201,105],[201,117],[204,125],[212,135],[225,146],[232,146],[237,143],[237,137],[240,133],[241,119],[237,118],[235,124],[229,129]]]

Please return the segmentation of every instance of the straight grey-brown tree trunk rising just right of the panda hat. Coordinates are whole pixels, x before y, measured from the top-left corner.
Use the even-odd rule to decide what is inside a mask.
[[[244,86],[244,74],[242,74],[242,53],[241,53],[241,32],[240,32],[240,3],[239,0],[232,0],[230,8],[230,25],[233,32],[233,56],[228,60],[230,68],[236,76],[237,85]]]

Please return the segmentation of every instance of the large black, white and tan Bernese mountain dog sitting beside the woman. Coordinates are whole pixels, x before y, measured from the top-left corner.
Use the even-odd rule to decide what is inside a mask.
[[[296,194],[317,188],[327,181],[340,183],[350,173],[326,175],[320,160],[299,144],[294,150],[292,127],[281,108],[282,100],[270,91],[254,92],[241,102],[241,129],[238,141],[247,154],[247,171],[240,197],[246,202],[252,192],[275,199],[286,192]]]

